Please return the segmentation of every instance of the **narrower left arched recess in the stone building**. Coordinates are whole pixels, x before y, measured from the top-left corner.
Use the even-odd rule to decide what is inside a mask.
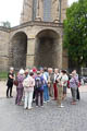
[[[27,36],[23,32],[12,38],[12,66],[15,70],[26,67]]]

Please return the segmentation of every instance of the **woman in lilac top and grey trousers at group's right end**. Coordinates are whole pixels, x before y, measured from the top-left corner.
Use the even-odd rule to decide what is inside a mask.
[[[76,96],[77,96],[77,87],[78,87],[78,76],[76,76],[76,73],[72,72],[72,79],[70,80],[70,87],[72,92],[72,105],[76,104]]]

